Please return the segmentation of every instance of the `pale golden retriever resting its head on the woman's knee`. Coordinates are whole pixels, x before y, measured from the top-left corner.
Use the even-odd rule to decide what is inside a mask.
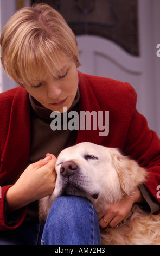
[[[56,162],[56,185],[51,196],[40,200],[40,218],[63,194],[88,198],[97,214],[119,202],[146,179],[144,168],[117,149],[82,142],[61,151]],[[146,214],[133,205],[123,224],[100,229],[102,245],[160,245],[160,216]]]

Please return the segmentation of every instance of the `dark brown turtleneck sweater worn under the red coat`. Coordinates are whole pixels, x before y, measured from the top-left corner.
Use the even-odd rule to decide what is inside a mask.
[[[68,112],[78,111],[79,98],[80,93],[78,89],[72,106],[68,109]],[[53,131],[50,128],[50,123],[53,120],[53,118],[50,118],[50,114],[53,111],[40,105],[39,102],[37,102],[31,95],[29,95],[29,99],[31,103],[31,140],[30,156],[27,166],[43,159],[47,153],[53,154],[57,157],[61,150],[74,145],[76,142],[76,131],[65,131],[63,129],[61,131]],[[25,168],[27,168],[27,166]],[[37,202],[33,202],[29,205],[25,221],[35,219],[39,219]]]

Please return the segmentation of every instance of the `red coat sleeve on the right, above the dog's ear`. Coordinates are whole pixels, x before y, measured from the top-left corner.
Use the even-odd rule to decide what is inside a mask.
[[[160,205],[158,187],[160,185],[160,139],[156,132],[148,127],[146,118],[136,109],[135,92],[129,86],[130,126],[127,131],[124,151],[137,160],[141,167],[148,171],[145,187]]]

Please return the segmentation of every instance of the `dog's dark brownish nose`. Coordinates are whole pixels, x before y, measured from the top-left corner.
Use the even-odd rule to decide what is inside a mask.
[[[78,166],[76,165],[76,163],[74,163],[73,161],[67,161],[62,163],[60,168],[60,173],[64,177],[67,177],[67,176],[69,177],[69,176],[72,176],[75,170],[77,169],[78,169]]]

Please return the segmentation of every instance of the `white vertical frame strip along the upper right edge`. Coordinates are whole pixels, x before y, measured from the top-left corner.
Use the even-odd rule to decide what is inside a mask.
[[[139,0],[139,43],[144,74],[140,86],[142,113],[148,119],[149,127],[160,136],[160,57],[157,44],[160,43],[160,1]]]

